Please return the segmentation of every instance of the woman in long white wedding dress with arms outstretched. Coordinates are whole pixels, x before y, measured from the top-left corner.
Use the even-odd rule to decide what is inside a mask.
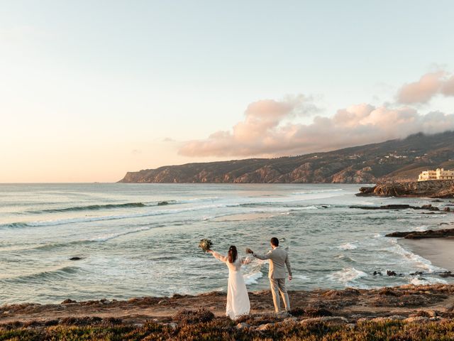
[[[238,258],[238,251],[236,251],[234,245],[228,249],[227,256],[218,254],[213,250],[209,250],[209,253],[216,259],[226,263],[228,267],[226,315],[232,320],[239,318],[241,315],[248,315],[250,310],[248,289],[246,289],[240,268],[243,264],[249,264],[250,259]]]

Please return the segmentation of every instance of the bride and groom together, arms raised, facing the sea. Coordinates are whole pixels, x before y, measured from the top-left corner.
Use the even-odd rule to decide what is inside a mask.
[[[289,281],[292,281],[292,268],[290,267],[289,255],[285,249],[279,247],[279,239],[273,237],[270,240],[272,250],[267,254],[256,254],[251,249],[246,249],[248,254],[252,254],[258,259],[269,259],[270,270],[268,277],[270,278],[270,286],[272,293],[272,300],[275,303],[276,313],[284,313],[281,310],[281,303],[279,293],[284,301],[285,310],[288,313],[290,310],[289,295],[287,288],[285,288],[285,267],[289,271]],[[209,250],[216,259],[226,263],[228,267],[228,288],[227,288],[227,306],[226,315],[231,319],[236,319],[241,315],[247,315],[250,311],[250,303],[248,290],[244,282],[243,274],[241,274],[241,266],[249,264],[250,258],[238,257],[238,251],[235,246],[228,249],[227,256],[218,254],[218,252]]]

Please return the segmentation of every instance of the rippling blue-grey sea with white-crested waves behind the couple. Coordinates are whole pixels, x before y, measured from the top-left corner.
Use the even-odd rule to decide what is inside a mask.
[[[225,290],[225,253],[289,248],[291,289],[437,283],[443,269],[387,232],[429,229],[450,215],[367,211],[350,205],[422,205],[425,199],[355,197],[359,185],[3,184],[0,304],[57,303]],[[157,205],[167,201],[169,205]],[[70,261],[79,256],[79,261]],[[394,270],[404,276],[373,276]],[[423,276],[411,276],[424,271]],[[243,269],[250,291],[268,288],[267,263]]]

